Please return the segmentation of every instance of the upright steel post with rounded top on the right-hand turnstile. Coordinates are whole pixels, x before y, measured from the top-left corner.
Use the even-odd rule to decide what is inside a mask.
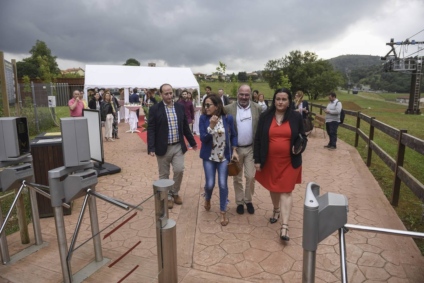
[[[313,190],[312,190],[313,187]],[[302,282],[315,282],[315,259],[318,248],[318,201],[315,194],[319,195],[319,185],[308,183],[306,186],[305,201],[303,204],[303,265]]]

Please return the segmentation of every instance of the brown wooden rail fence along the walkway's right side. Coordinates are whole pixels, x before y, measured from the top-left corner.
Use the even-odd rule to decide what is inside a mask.
[[[326,108],[324,105],[318,105],[315,103],[311,103],[311,114],[316,115],[315,112],[312,111],[312,107],[318,107],[319,112],[322,115],[322,110]],[[404,157],[405,157],[405,147],[409,147],[410,149],[416,151],[417,153],[421,153],[424,155],[424,140],[418,139],[415,136],[411,136],[407,133],[407,130],[404,129],[396,129],[392,126],[389,126],[379,120],[376,120],[375,117],[369,117],[361,113],[361,111],[350,111],[344,109],[345,114],[349,116],[356,117],[356,125],[352,126],[346,123],[340,124],[340,127],[351,130],[355,133],[355,143],[354,146],[358,146],[359,137],[363,139],[368,144],[368,152],[367,152],[367,166],[371,166],[371,155],[372,152],[377,154],[377,156],[394,172],[394,180],[392,187],[392,195],[391,195],[391,204],[397,206],[399,203],[399,191],[401,181],[411,190],[421,201],[424,201],[424,185],[417,180],[410,172],[408,172],[404,167]],[[361,120],[368,123],[370,125],[369,134],[367,136],[363,130],[360,129]],[[386,153],[381,147],[374,142],[374,129],[382,131],[386,135],[391,138],[397,140],[397,152],[396,152],[396,160],[392,158],[388,153]]]

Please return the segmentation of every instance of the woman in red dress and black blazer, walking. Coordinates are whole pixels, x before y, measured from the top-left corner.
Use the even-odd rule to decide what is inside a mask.
[[[277,89],[270,108],[259,117],[253,153],[255,179],[270,192],[274,205],[270,222],[277,222],[281,213],[280,237],[284,241],[290,240],[288,222],[293,207],[292,191],[301,183],[301,153],[307,143],[302,116],[292,109],[292,104],[290,91]],[[299,134],[303,144],[295,152],[294,144]]]

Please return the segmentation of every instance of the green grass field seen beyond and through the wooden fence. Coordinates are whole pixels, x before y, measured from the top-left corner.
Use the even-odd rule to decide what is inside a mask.
[[[420,139],[424,139],[424,116],[405,115],[404,111],[407,107],[406,105],[388,103],[383,100],[378,101],[366,99],[341,91],[337,92],[337,98],[341,101],[341,103],[343,103],[343,108],[345,109],[361,111],[363,114],[370,117],[376,117],[377,120],[391,125],[394,128],[407,129],[409,134]],[[312,103],[326,105],[328,103],[328,99],[323,98],[312,101]],[[345,123],[353,126],[356,125],[356,117],[346,115]],[[360,128],[368,135],[368,123],[361,121]],[[355,136],[352,131],[339,127],[338,136],[343,141],[351,144],[352,146],[354,145]],[[359,141],[357,150],[365,162],[368,145],[365,144],[362,139],[359,139]],[[385,133],[382,133],[380,130],[375,129],[374,142],[376,142],[379,147],[385,150],[386,153],[396,160],[397,140],[391,138]],[[424,183],[423,155],[406,147],[404,168],[421,183]],[[375,153],[372,155],[371,166],[369,169],[378,181],[386,197],[390,200],[394,178],[391,169],[389,169],[389,167]],[[419,200],[415,194],[402,183],[399,205],[394,209],[408,230],[424,232],[424,227],[419,225],[422,215],[421,205],[421,200]],[[424,255],[424,240],[416,240],[416,243],[420,248],[421,253]]]

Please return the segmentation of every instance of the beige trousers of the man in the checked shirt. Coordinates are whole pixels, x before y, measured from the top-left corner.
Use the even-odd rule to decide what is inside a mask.
[[[159,179],[169,179],[170,165],[172,164],[172,172],[174,172],[173,180],[174,188],[168,191],[168,200],[172,199],[172,195],[177,195],[181,188],[181,181],[184,174],[184,153],[181,144],[168,145],[165,155],[156,155],[159,167]]]

